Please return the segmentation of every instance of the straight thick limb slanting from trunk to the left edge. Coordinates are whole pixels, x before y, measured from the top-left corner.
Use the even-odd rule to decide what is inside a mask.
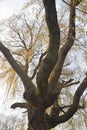
[[[9,64],[12,68],[17,72],[21,80],[23,81],[24,87],[26,91],[35,92],[35,86],[32,81],[29,79],[26,72],[19,66],[19,64],[15,61],[10,51],[0,42],[0,51],[3,53]]]

